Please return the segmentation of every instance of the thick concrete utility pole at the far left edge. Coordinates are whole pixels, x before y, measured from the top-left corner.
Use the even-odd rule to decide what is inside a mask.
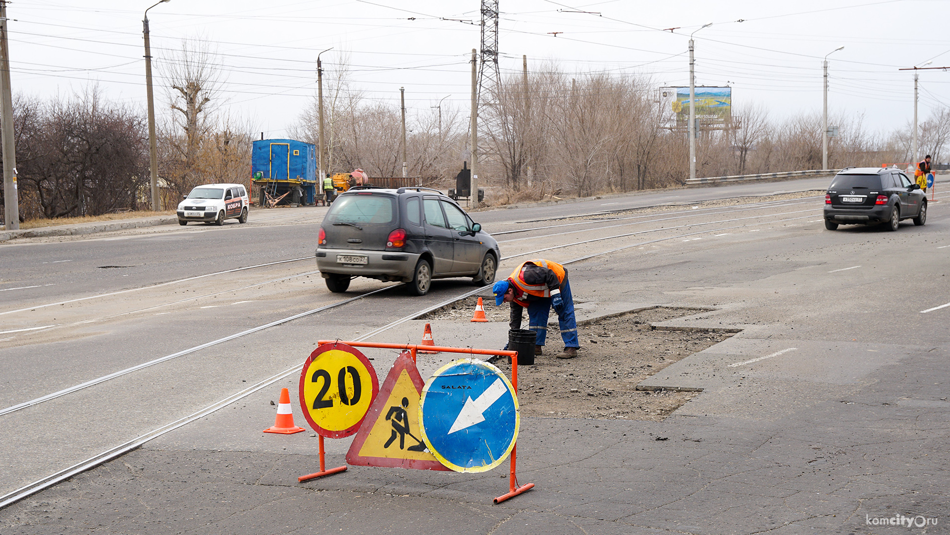
[[[3,198],[7,230],[19,230],[20,205],[16,190],[16,144],[13,140],[13,99],[10,91],[10,48],[7,42],[7,0],[0,0],[0,105],[3,106]]]

